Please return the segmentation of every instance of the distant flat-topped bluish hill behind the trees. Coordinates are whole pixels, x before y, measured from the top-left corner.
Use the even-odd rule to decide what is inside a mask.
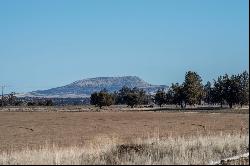
[[[48,90],[37,90],[18,97],[47,97],[47,98],[79,98],[90,97],[93,92],[106,88],[109,92],[120,90],[123,86],[142,88],[148,93],[155,93],[165,85],[151,85],[137,76],[97,77],[75,81],[71,84]]]

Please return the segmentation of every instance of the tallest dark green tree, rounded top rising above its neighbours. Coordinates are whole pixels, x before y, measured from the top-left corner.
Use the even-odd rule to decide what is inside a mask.
[[[194,105],[201,102],[203,85],[201,77],[196,72],[188,71],[186,73],[183,88],[186,103]]]

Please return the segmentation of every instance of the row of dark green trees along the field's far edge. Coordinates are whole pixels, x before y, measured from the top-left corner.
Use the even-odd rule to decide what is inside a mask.
[[[131,108],[136,105],[147,105],[153,102],[160,107],[164,104],[175,104],[181,108],[187,105],[195,106],[202,103],[209,105],[228,104],[233,105],[249,104],[249,73],[244,71],[240,74],[225,74],[219,76],[213,83],[202,84],[201,77],[193,71],[185,74],[182,84],[172,83],[165,89],[158,89],[155,95],[147,94],[143,89],[128,88],[124,86],[119,91],[109,93],[106,89],[91,94],[90,103],[92,105],[110,106],[112,104],[127,104]]]

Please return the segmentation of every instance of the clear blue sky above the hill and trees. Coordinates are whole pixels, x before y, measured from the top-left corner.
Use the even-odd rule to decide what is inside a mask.
[[[89,77],[204,82],[249,66],[248,0],[0,0],[0,84],[47,89]]]

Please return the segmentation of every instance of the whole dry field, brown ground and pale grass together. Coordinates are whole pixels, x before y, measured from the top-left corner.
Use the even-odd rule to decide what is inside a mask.
[[[249,113],[10,110],[0,111],[0,133],[0,164],[208,164],[249,151]],[[93,155],[95,140],[101,147]],[[176,156],[170,158],[163,147],[177,150]],[[124,149],[133,155],[120,158]],[[104,159],[104,154],[118,158]],[[148,155],[153,155],[150,160]],[[72,157],[76,160],[67,160]]]

